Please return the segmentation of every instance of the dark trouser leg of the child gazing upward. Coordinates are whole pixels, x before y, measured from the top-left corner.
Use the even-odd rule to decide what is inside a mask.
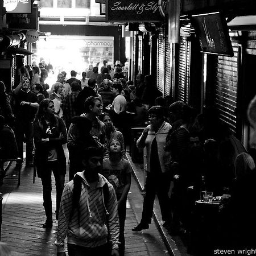
[[[125,255],[125,219],[126,219],[126,201],[118,205],[119,217],[119,256]]]

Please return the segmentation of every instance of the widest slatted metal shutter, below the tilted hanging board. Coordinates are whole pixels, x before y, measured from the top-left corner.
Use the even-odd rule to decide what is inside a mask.
[[[232,42],[234,57],[218,56],[215,105],[222,121],[236,131],[238,42]]]

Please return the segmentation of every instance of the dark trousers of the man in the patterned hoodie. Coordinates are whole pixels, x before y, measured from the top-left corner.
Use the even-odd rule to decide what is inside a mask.
[[[69,256],[96,256],[96,255],[111,255],[111,248],[108,243],[97,247],[84,247],[68,243],[68,255]]]

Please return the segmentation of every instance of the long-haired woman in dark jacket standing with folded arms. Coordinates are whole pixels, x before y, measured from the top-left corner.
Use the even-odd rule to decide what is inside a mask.
[[[66,158],[63,144],[67,143],[67,131],[62,118],[54,114],[52,100],[40,102],[33,123],[35,141],[35,167],[43,185],[43,205],[46,222],[43,228],[52,228],[52,172],[56,186],[56,220],[59,216],[60,199],[64,188]]]

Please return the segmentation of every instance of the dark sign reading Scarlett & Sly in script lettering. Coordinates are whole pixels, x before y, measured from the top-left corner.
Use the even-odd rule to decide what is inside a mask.
[[[108,22],[162,22],[156,0],[108,0],[106,1]]]

